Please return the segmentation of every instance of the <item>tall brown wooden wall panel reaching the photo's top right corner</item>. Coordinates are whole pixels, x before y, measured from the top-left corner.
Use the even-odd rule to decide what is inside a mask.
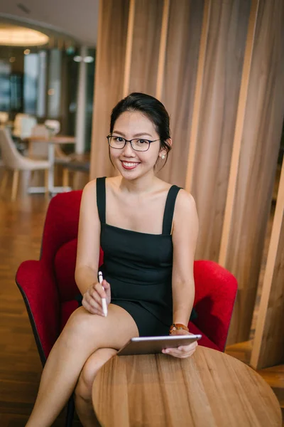
[[[249,339],[284,113],[283,1],[259,1],[226,268],[239,282],[228,344]],[[233,191],[233,189],[231,189]]]

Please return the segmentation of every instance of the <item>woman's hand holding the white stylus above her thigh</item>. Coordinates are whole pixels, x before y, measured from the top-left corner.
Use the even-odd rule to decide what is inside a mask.
[[[103,280],[102,285],[97,282],[89,286],[86,292],[84,292],[82,306],[88,312],[92,313],[92,315],[104,317],[102,298],[106,298],[107,305],[109,305],[109,302],[111,302],[111,285],[109,285],[107,280]]]

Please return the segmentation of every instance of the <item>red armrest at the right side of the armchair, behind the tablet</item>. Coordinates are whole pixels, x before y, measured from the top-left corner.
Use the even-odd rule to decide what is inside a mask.
[[[238,284],[234,275],[214,261],[195,261],[193,323],[223,352]]]

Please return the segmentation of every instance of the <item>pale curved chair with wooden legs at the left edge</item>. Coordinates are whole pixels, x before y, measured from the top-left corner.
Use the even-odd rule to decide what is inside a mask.
[[[1,192],[4,191],[7,184],[8,170],[13,171],[12,201],[16,199],[19,171],[43,170],[45,171],[45,193],[48,194],[48,169],[50,164],[47,160],[33,160],[20,154],[11,139],[9,131],[6,129],[0,129],[0,147],[5,167],[4,176],[1,180]]]

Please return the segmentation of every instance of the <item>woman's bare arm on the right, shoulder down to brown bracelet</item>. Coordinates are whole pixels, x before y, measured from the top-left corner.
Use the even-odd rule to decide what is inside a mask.
[[[181,189],[173,218],[173,323],[187,325],[195,299],[193,263],[198,236],[195,200]]]

